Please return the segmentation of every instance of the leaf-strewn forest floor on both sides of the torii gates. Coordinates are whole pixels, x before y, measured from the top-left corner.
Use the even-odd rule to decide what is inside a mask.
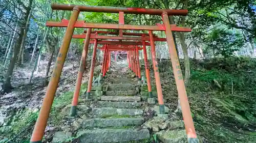
[[[74,59],[65,63],[46,128],[46,137],[52,135],[56,121],[63,118],[60,115],[63,105],[71,103],[78,61]],[[26,84],[31,69],[16,68],[12,78],[12,92],[0,95],[1,143],[29,142],[46,92],[46,87],[42,86],[45,65],[43,64],[35,74],[31,85]],[[196,130],[203,138],[203,142],[256,142],[256,60],[191,60],[190,66],[187,95]],[[142,75],[145,75],[144,68],[142,64]],[[97,66],[96,72],[99,69],[100,66]],[[1,72],[5,73],[4,70]],[[159,72],[165,103],[170,109],[175,110],[178,94],[170,60],[159,61]],[[88,72],[85,75],[84,81],[88,79]],[[4,75],[1,76],[0,79],[3,79]],[[155,91],[152,66],[151,77]],[[217,86],[216,81],[221,87]],[[85,91],[86,85],[82,85],[81,93]]]

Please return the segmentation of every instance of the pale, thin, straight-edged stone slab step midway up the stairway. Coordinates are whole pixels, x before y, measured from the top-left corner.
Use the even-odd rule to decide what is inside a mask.
[[[126,102],[139,102],[140,96],[101,96],[102,101],[126,101]]]

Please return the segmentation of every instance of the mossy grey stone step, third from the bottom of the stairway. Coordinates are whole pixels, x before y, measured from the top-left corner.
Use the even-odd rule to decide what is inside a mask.
[[[143,110],[141,109],[125,109],[125,108],[94,108],[94,115],[100,117],[120,115],[120,116],[138,116],[143,114]]]

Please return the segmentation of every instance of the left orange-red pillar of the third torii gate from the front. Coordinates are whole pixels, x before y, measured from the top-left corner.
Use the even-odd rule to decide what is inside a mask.
[[[96,61],[97,42],[98,42],[98,40],[95,39],[94,47],[93,47],[92,64],[91,64],[91,69],[90,69],[90,77],[88,80],[88,88],[87,88],[87,92],[86,92],[86,99],[90,99],[90,95],[91,95],[91,89],[92,89],[92,83],[93,83],[93,72],[94,72],[95,61]]]

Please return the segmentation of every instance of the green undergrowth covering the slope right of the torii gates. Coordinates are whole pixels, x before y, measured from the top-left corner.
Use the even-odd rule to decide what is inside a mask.
[[[159,65],[165,71],[160,73],[164,98],[176,105],[178,95],[170,60]],[[191,60],[190,66],[186,90],[196,130],[204,142],[255,142],[256,60]],[[173,83],[166,84],[166,80]]]

